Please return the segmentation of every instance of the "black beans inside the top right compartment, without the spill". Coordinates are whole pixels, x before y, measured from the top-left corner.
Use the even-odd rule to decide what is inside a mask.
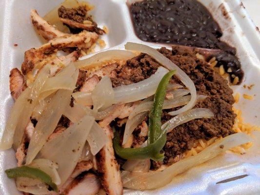
[[[158,32],[160,36],[157,42],[188,46],[197,46],[195,43],[200,42],[200,46],[218,48],[216,43],[219,41],[216,38],[221,35],[220,27],[207,9],[196,0],[143,0],[133,3],[130,10],[140,39],[145,37],[148,41],[154,41],[154,33]],[[143,31],[139,31],[140,26]],[[178,35],[178,42],[175,37],[168,38],[165,32]],[[206,35],[203,32],[208,32],[207,38],[212,40],[210,43],[205,41]]]

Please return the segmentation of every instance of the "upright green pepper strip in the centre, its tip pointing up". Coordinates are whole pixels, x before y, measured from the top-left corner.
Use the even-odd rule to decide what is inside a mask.
[[[175,70],[168,72],[160,80],[157,90],[154,95],[153,108],[149,114],[149,131],[148,131],[148,143],[154,143],[161,135],[161,114],[162,105],[166,95],[166,89],[169,84],[170,78],[175,74]]]

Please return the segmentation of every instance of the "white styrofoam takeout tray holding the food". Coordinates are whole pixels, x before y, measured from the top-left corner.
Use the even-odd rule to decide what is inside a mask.
[[[0,0],[0,132],[13,104],[9,93],[9,71],[20,68],[24,51],[41,45],[30,21],[30,9],[45,15],[63,0]],[[127,41],[140,42],[154,47],[162,44],[143,42],[134,33],[125,0],[87,0],[95,5],[92,14],[109,34],[102,39],[105,49],[123,49]],[[246,122],[260,126],[260,33],[239,0],[199,0],[212,13],[223,31],[222,40],[237,48],[242,68],[243,82],[233,86],[234,93],[249,94],[254,100],[240,98],[235,106],[243,111]],[[14,44],[18,46],[15,47]],[[243,84],[255,84],[252,90]],[[177,176],[172,183],[153,191],[125,190],[128,195],[259,195],[260,194],[260,135],[255,132],[253,147],[240,156],[230,152],[218,156],[203,165],[194,167]],[[0,194],[19,195],[15,183],[6,177],[4,170],[16,166],[12,149],[0,152]],[[247,175],[243,178],[219,183],[228,178]]]

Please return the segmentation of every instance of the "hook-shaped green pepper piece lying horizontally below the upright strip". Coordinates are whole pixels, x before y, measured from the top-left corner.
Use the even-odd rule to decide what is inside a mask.
[[[113,147],[118,156],[124,159],[146,159],[162,160],[164,154],[160,154],[166,142],[166,131],[154,143],[142,148],[122,148],[120,145],[120,136],[114,132]]]

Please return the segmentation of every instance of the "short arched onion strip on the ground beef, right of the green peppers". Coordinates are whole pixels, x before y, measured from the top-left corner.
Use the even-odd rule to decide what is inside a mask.
[[[172,119],[165,122],[161,129],[166,129],[167,133],[171,132],[175,127],[186,123],[190,120],[196,119],[196,118],[212,118],[214,117],[214,114],[211,110],[207,108],[194,108],[191,110],[188,110],[184,113],[181,113],[180,115],[177,115],[176,117],[173,117]]]

